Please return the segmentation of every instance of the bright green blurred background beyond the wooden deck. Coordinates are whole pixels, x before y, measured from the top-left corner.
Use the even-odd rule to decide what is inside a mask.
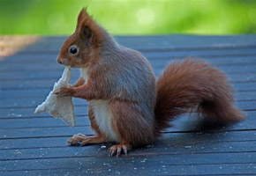
[[[256,0],[0,0],[0,34],[71,34],[86,6],[118,35],[256,33]]]

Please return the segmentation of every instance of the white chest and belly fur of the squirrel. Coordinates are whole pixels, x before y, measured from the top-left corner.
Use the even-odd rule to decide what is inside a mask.
[[[87,82],[87,70],[81,69],[80,73]],[[109,108],[109,100],[92,100],[90,104],[94,109],[95,120],[102,133],[108,137],[109,141],[120,142],[112,125],[113,116]]]

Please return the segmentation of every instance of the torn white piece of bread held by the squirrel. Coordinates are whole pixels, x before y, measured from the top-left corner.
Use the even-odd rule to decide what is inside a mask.
[[[72,97],[57,97],[53,93],[61,87],[68,87],[71,75],[72,69],[66,67],[62,77],[54,84],[53,90],[49,92],[45,101],[36,107],[34,114],[48,112],[53,117],[62,119],[71,127],[76,125]]]

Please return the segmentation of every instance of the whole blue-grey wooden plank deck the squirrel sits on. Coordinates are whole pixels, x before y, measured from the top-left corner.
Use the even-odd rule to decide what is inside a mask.
[[[247,114],[229,127],[184,115],[157,142],[120,158],[108,157],[109,143],[66,145],[73,134],[93,135],[86,101],[74,99],[75,128],[34,114],[64,69],[56,63],[64,37],[0,39],[0,175],[256,175],[256,35],[117,37],[146,55],[156,76],[186,56],[215,64]],[[78,77],[74,70],[72,83]]]

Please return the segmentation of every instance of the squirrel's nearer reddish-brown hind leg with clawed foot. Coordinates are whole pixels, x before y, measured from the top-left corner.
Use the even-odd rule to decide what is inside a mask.
[[[142,105],[141,105],[142,106]],[[154,141],[154,119],[143,113],[138,104],[127,100],[113,100],[110,105],[113,115],[113,125],[120,137],[121,143],[109,148],[109,156],[133,147],[153,143]],[[151,119],[152,118],[152,119]]]

